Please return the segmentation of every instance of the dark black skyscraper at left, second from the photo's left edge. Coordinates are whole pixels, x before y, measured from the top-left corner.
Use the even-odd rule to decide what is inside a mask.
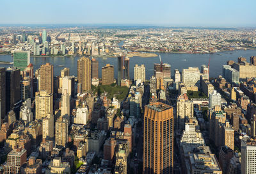
[[[11,67],[6,70],[6,113],[20,101],[20,69]]]

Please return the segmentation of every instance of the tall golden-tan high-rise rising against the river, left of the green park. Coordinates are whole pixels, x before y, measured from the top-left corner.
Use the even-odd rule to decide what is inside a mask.
[[[92,85],[91,60],[89,58],[81,58],[77,60],[77,79],[82,84],[82,91],[88,91]]]

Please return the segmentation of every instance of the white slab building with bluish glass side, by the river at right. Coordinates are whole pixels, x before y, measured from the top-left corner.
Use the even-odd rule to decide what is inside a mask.
[[[229,65],[223,65],[222,75],[229,83],[239,83],[239,72]]]

